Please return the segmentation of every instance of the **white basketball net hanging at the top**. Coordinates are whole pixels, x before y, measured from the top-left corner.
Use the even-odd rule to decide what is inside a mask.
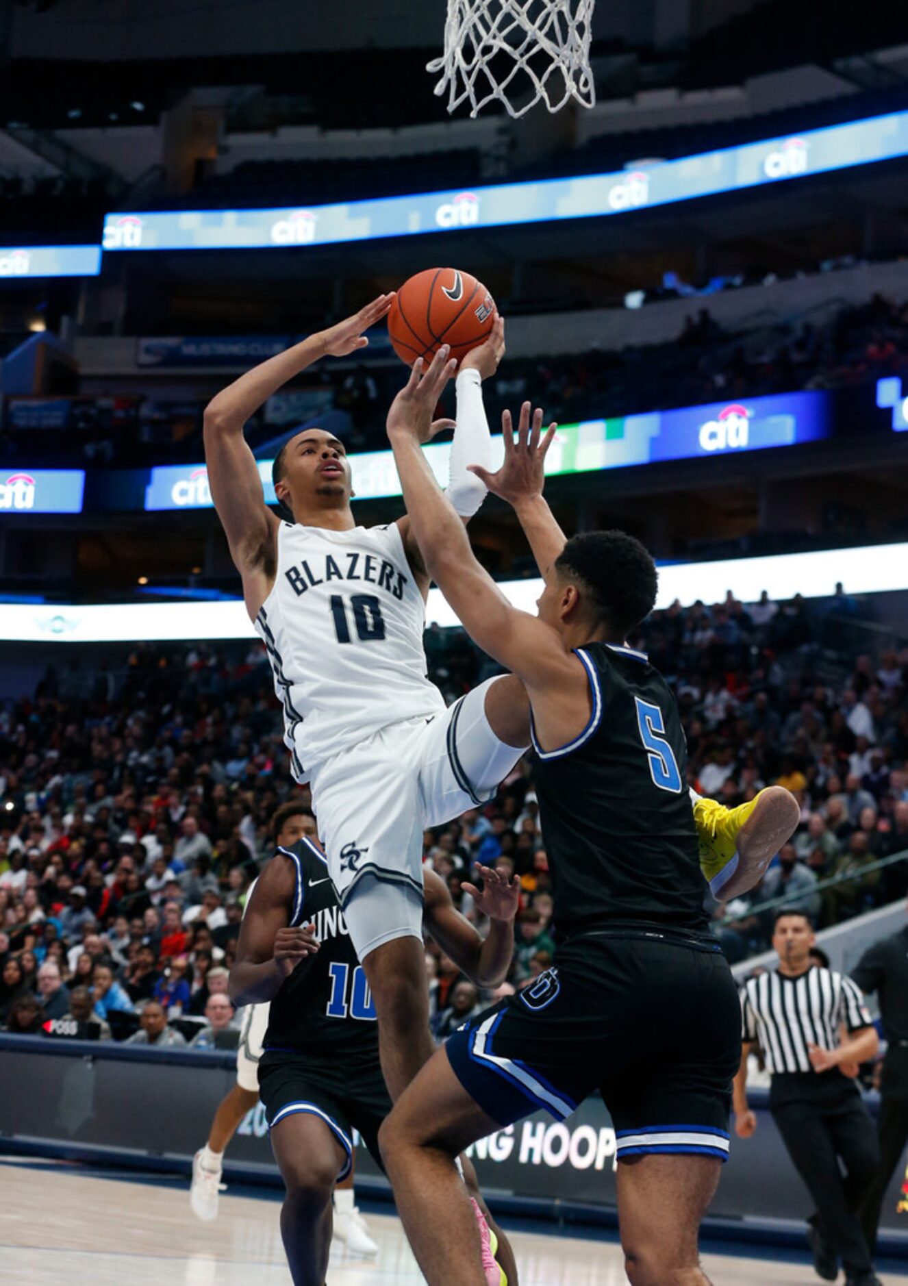
[[[469,102],[471,116],[498,99],[513,117],[540,99],[557,112],[568,98],[595,103],[589,67],[595,0],[448,0],[445,51],[435,93],[448,111]],[[493,62],[494,60],[494,62]],[[523,98],[530,93],[530,100]]]

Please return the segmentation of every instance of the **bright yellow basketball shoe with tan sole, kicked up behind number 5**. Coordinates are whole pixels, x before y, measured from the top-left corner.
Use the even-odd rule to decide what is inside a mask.
[[[713,896],[724,901],[758,883],[795,832],[800,809],[783,786],[768,786],[749,804],[737,808],[698,797],[693,819],[700,841],[700,869]]]

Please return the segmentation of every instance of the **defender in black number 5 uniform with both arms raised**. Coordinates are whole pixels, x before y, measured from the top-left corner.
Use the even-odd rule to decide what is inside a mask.
[[[625,644],[656,599],[649,553],[624,532],[565,543],[541,498],[541,413],[505,417],[505,466],[482,473],[516,505],[545,588],[516,611],[472,554],[418,432],[453,372],[417,363],[388,415],[426,565],[473,640],[523,683],[553,878],[554,967],[435,1055],[382,1130],[397,1208],[431,1283],[481,1286],[480,1237],[453,1157],[543,1107],[599,1091],[617,1134],[617,1192],[634,1286],[702,1286],[697,1231],[728,1154],[741,1020],[707,934],[705,886],[674,697]],[[526,502],[526,503],[523,503]]]

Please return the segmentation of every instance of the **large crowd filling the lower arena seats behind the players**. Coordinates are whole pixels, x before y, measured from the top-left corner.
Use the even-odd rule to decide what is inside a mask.
[[[725,804],[770,782],[801,824],[761,887],[714,905],[729,958],[767,945],[769,898],[819,925],[902,898],[908,862],[908,647],[837,653],[859,601],[706,606],[656,612],[633,642],[670,679],[689,777]],[[833,629],[830,629],[830,622]],[[850,635],[849,635],[850,638]],[[494,673],[462,631],[427,633],[430,674],[451,701]],[[0,705],[0,1024],[156,1046],[237,1042],[226,995],[250,883],[273,850],[270,819],[307,805],[288,774],[280,711],[260,644],[136,644],[118,671],[49,670]],[[522,889],[520,988],[554,950],[548,856],[527,764],[498,799],[427,832],[424,860],[462,891],[475,862]],[[850,878],[818,887],[831,876]],[[431,944],[436,1034],[487,999]],[[504,993],[496,993],[504,994]]]

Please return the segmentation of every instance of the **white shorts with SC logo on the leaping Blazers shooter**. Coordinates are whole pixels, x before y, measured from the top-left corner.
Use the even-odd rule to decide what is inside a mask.
[[[493,683],[441,714],[379,729],[313,778],[313,811],[360,959],[394,937],[422,936],[423,831],[493,799],[523,754],[489,725]]]

